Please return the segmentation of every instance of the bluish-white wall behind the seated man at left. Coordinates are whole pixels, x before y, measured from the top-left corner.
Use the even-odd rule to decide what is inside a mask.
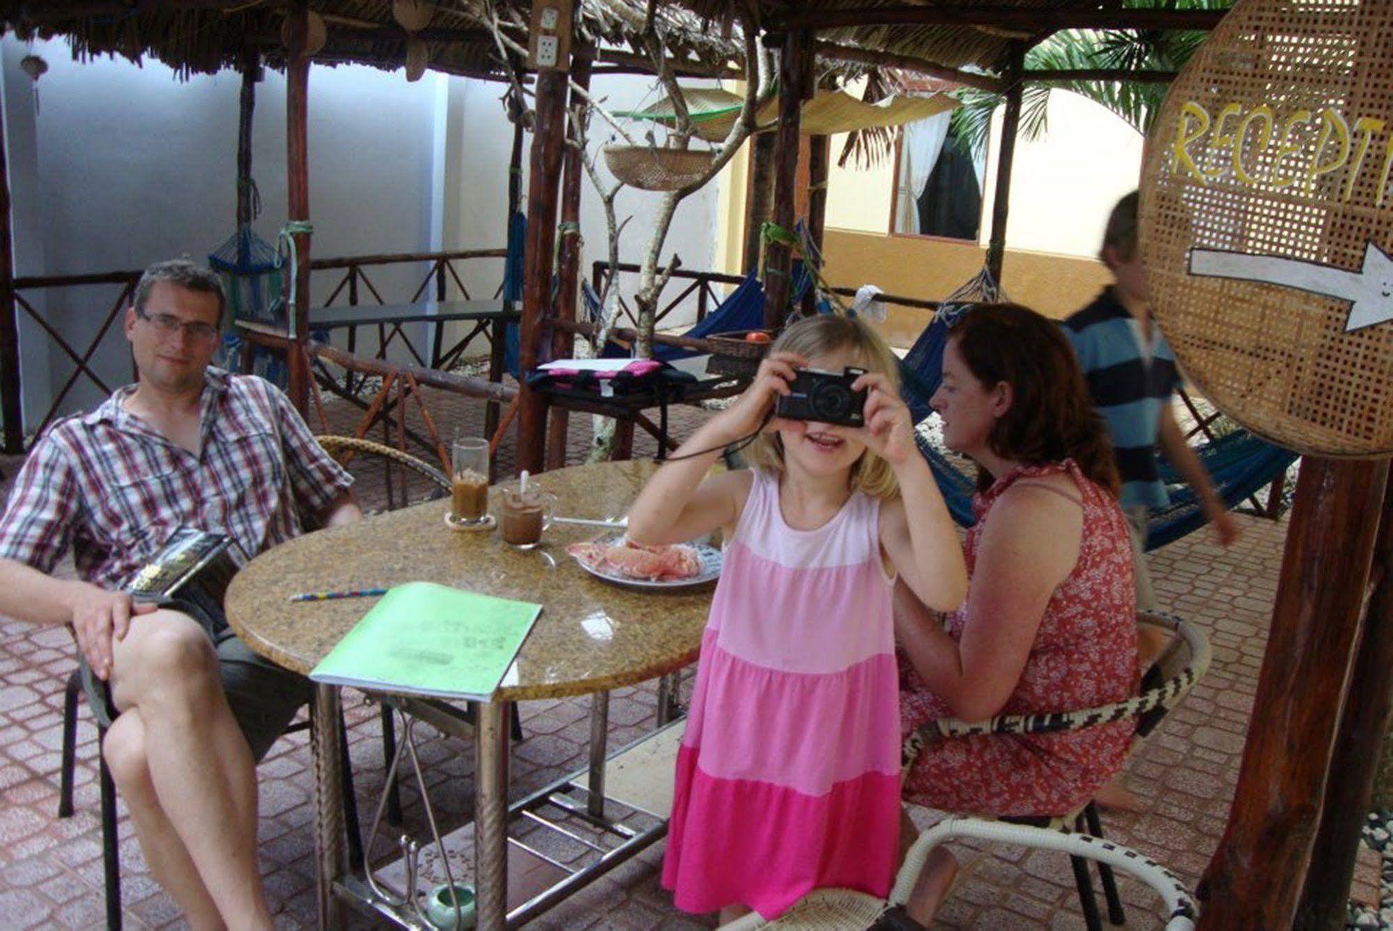
[[[65,43],[38,42],[32,50],[47,60],[49,72],[39,84],[42,106],[32,113],[28,81],[17,71],[26,47],[13,36],[3,42],[7,128],[28,120],[33,125],[32,155],[15,159],[15,138],[8,146],[18,275],[139,269],[185,252],[202,258],[233,233],[238,74],[181,82],[157,61],[143,67],[110,59],[75,63]],[[361,67],[311,70],[315,255],[430,247],[433,120],[432,79],[407,84],[400,71]],[[287,213],[286,79],[269,70],[256,86],[252,174],[262,197],[255,229],[274,241]],[[26,197],[40,209],[22,212]],[[423,268],[398,268],[371,277],[384,298],[405,300],[421,275]],[[332,273],[316,273],[312,301],[327,297],[333,284]],[[50,290],[45,295],[50,322],[81,353],[116,294],[98,286]],[[24,336],[26,428],[33,429],[47,407],[39,401],[65,380],[72,365],[32,328]],[[109,385],[130,380],[118,326],[95,361]],[[88,408],[100,399],[102,392],[82,379],[64,407]]]

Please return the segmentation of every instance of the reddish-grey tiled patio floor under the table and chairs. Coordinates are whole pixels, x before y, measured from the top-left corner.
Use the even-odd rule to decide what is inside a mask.
[[[436,422],[478,431],[481,406],[451,397],[433,401]],[[345,418],[343,410],[334,420]],[[589,417],[573,418],[573,457],[582,457]],[[674,432],[694,417],[676,418]],[[347,420],[336,422],[345,431]],[[637,443],[639,454],[652,443]],[[501,450],[513,461],[511,442]],[[17,459],[0,457],[10,479]],[[0,486],[6,488],[7,486]],[[364,481],[364,496],[380,498],[380,485]],[[1199,624],[1213,644],[1213,666],[1185,704],[1172,714],[1130,765],[1128,782],[1141,813],[1105,814],[1110,836],[1152,854],[1191,886],[1219,839],[1231,800],[1244,733],[1252,712],[1256,673],[1266,643],[1286,525],[1240,517],[1244,537],[1230,549],[1194,534],[1151,557],[1166,608]],[[84,708],[79,726],[77,814],[57,820],[63,684],[74,666],[74,647],[61,629],[38,629],[0,619],[0,927],[92,928],[103,921],[100,828],[98,824],[96,740]],[[345,700],[361,810],[366,818],[382,787],[383,764],[373,708]],[[527,739],[513,758],[513,794],[527,793],[579,769],[586,758],[588,701],[525,702]],[[616,693],[610,746],[621,746],[653,726],[653,688]],[[467,743],[439,737],[429,728],[423,761],[430,793],[449,825],[468,821],[474,767]],[[313,927],[313,840],[311,754],[306,736],[284,737],[262,762],[262,870],[283,928]],[[421,806],[405,790],[407,825],[423,828]],[[932,813],[921,813],[932,820]],[[123,817],[123,896],[130,928],[180,927],[170,899],[150,879],[128,821]],[[384,853],[379,847],[379,854]],[[944,907],[943,928],[1078,928],[1073,874],[1061,854],[960,849],[963,878]],[[677,913],[657,885],[662,843],[617,868],[528,927],[534,928],[695,928],[709,916]],[[1361,868],[1355,892],[1368,900],[1371,871]],[[1159,900],[1123,882],[1128,927],[1160,927]],[[355,927],[376,927],[354,918]]]

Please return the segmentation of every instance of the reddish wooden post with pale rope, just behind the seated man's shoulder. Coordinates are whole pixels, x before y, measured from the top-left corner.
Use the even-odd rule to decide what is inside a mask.
[[[290,192],[290,223],[309,222],[309,139],[308,139],[308,92],[309,56],[305,54],[308,32],[305,0],[291,0],[290,4],[290,50],[286,57],[286,180]],[[295,330],[290,334],[291,346],[286,354],[290,368],[290,401],[301,414],[309,403],[309,369],[305,367],[304,346],[309,340],[309,233],[291,233],[295,243]]]

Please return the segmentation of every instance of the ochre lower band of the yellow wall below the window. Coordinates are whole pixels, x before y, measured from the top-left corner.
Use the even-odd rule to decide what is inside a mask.
[[[826,279],[839,287],[875,284],[886,294],[943,300],[982,268],[985,249],[971,243],[926,237],[827,230]],[[1046,316],[1061,318],[1088,304],[1112,280],[1095,259],[1007,249],[1002,286],[1007,297]],[[886,305],[882,328],[893,346],[910,346],[929,312]]]

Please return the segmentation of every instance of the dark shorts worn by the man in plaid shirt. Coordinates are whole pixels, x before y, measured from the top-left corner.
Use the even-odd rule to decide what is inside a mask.
[[[309,701],[309,680],[252,652],[227,626],[221,605],[201,591],[180,592],[178,598],[162,601],[160,608],[188,615],[208,633],[237,726],[242,729],[252,757],[265,757],[299,707]],[[92,714],[103,726],[110,726],[120,714],[111,704],[111,690],[92,675],[81,651],[78,659]]]

